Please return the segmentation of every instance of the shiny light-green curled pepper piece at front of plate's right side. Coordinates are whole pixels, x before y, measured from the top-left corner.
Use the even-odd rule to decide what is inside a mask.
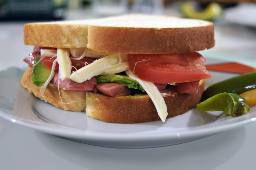
[[[247,114],[251,109],[246,100],[234,93],[220,93],[199,103],[200,111],[223,111],[223,114],[237,117]]]

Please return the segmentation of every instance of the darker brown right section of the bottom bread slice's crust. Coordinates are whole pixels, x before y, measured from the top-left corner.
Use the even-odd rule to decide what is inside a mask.
[[[181,94],[171,90],[164,96],[168,118],[181,115],[196,107],[204,91],[201,81],[197,94]],[[94,119],[111,123],[142,123],[161,120],[148,95],[107,97],[102,94],[86,93],[86,114]]]

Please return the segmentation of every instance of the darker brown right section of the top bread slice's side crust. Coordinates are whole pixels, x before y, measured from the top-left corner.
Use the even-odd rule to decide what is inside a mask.
[[[214,46],[214,26],[125,28],[88,26],[88,48],[108,53],[171,54]]]

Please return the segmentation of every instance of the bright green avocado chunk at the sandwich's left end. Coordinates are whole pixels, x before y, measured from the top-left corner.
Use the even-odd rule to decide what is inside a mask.
[[[33,71],[32,81],[36,86],[43,86],[51,74],[51,69],[45,67],[41,63],[39,56],[35,60],[32,71]]]

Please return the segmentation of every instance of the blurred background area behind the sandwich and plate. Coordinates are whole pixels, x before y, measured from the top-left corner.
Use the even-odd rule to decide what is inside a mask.
[[[201,53],[256,67],[256,0],[0,0],[0,69],[26,66],[22,59],[33,47],[23,44],[24,23],[127,13],[212,21],[215,47]]]

